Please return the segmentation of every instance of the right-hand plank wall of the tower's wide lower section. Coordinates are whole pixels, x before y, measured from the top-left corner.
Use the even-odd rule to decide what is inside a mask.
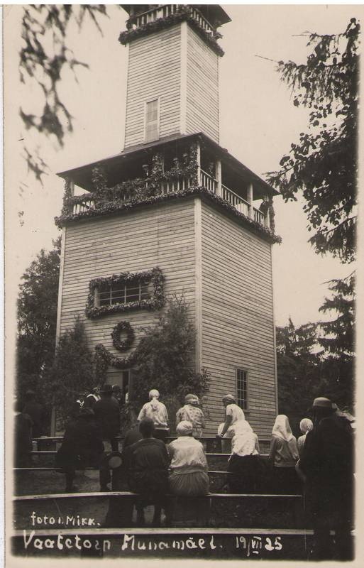
[[[275,353],[270,244],[202,204],[202,366],[211,371],[208,432],[224,394],[236,394],[236,368],[248,371],[246,414],[260,437],[275,417]]]

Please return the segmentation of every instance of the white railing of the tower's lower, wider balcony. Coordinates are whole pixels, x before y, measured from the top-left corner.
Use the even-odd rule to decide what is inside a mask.
[[[140,184],[145,183],[145,187],[148,187],[148,182],[143,182],[140,180]],[[187,190],[189,187],[192,187],[192,177],[189,175],[181,175],[174,180],[165,180],[160,182],[160,190],[158,195],[167,195],[168,193],[177,193]],[[219,182],[213,178],[211,175],[206,173],[204,170],[200,170],[200,182],[199,185],[205,187],[206,190],[211,191],[215,195],[219,195]],[[123,192],[121,189],[116,186],[113,190],[110,190],[113,193],[114,200],[120,200],[121,202],[129,202],[133,198],[133,194],[131,191]],[[223,200],[230,203],[238,212],[246,215],[246,217],[253,218],[255,222],[259,223],[260,225],[266,226],[267,225],[267,217],[261,212],[259,209],[250,209],[250,204],[248,201],[244,200],[241,195],[229,190],[226,185],[221,185],[221,197]],[[77,200],[77,203],[73,204],[72,213],[79,214],[85,213],[89,211],[89,209],[97,209],[97,204],[95,204],[94,199],[80,196]]]

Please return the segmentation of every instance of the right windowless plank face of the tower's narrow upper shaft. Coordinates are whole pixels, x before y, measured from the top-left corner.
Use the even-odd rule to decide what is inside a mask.
[[[219,143],[219,57],[188,26],[187,133],[201,131]]]

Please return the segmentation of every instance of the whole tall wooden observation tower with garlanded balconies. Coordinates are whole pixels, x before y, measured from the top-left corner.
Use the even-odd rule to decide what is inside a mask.
[[[123,8],[125,146],[60,173],[57,333],[80,315],[89,344],[109,354],[107,381],[132,387],[141,328],[158,320],[165,297],[183,293],[197,329],[196,368],[211,373],[206,433],[216,432],[221,397],[233,393],[264,437],[277,413],[277,192],[219,146],[217,28],[230,18],[217,4]],[[128,348],[114,366],[121,353],[113,338],[121,332]]]

